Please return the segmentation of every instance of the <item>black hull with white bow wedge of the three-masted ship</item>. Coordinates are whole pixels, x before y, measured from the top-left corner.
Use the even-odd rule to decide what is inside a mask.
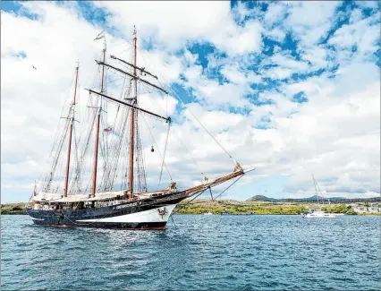
[[[184,192],[180,192],[99,208],[82,210],[27,209],[27,213],[33,222],[39,226],[165,229],[175,206],[186,197]]]

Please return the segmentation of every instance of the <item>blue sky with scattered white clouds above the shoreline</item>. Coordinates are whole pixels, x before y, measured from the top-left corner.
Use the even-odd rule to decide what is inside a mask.
[[[47,167],[78,61],[87,98],[103,48],[98,33],[106,30],[108,55],[127,58],[134,25],[138,64],[169,91],[143,94],[140,105],[165,107],[197,161],[171,132],[166,163],[174,180],[197,184],[200,171],[213,178],[233,170],[196,116],[242,167],[256,167],[223,198],[309,197],[312,173],[325,196],[379,196],[380,8],[377,1],[2,1],[2,202],[28,201]],[[163,127],[157,140],[165,134]],[[154,189],[160,158],[147,163]]]

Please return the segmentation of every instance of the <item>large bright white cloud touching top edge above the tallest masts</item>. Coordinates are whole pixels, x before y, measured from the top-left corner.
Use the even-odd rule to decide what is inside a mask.
[[[228,2],[206,1],[202,3],[202,9],[199,2],[192,1],[187,4],[107,1],[97,5],[113,13],[109,21],[126,34],[131,35],[132,25],[136,24],[142,38],[154,36],[169,49],[182,47],[195,39],[210,41],[231,55],[260,49],[261,26],[258,21],[250,21],[243,28],[235,25]]]

